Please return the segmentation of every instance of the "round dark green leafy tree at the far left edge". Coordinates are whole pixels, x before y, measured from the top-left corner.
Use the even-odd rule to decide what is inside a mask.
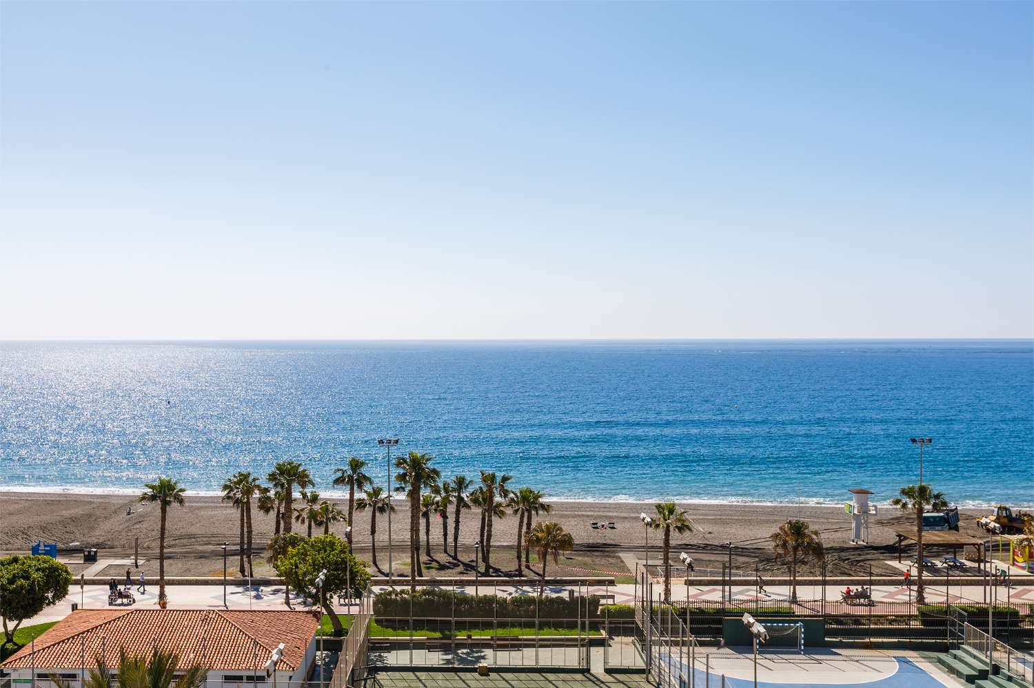
[[[5,643],[14,642],[14,631],[68,594],[71,571],[64,564],[39,555],[14,555],[0,559],[0,617]],[[14,622],[13,626],[9,622]]]

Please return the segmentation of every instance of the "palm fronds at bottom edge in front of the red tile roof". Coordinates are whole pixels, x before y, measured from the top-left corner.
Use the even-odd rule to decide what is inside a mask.
[[[150,657],[133,657],[126,654],[125,648],[121,648],[118,669],[112,671],[104,658],[98,656],[96,666],[90,669],[90,676],[83,682],[83,687],[201,688],[207,678],[207,666],[200,662],[180,666],[180,657],[175,652],[163,652],[155,648]],[[70,682],[61,679],[54,683],[61,688],[70,685]]]

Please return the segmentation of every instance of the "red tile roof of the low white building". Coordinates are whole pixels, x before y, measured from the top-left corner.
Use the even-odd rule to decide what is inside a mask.
[[[277,668],[302,668],[305,650],[320,622],[308,612],[236,612],[222,609],[77,609],[36,638],[36,669],[93,666],[103,650],[109,666],[118,666],[119,649],[149,655],[152,647],[174,651],[181,663],[204,661],[211,669],[262,669],[277,644],[283,659]],[[153,644],[153,645],[152,645]],[[0,667],[29,668],[27,645]]]

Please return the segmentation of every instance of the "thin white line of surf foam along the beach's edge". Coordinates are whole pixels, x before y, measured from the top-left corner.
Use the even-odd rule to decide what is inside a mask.
[[[0,494],[3,495],[66,495],[77,497],[132,497],[143,492],[143,484],[139,489],[126,488],[87,488],[83,486],[3,486],[0,484]],[[330,500],[346,500],[346,491],[321,490],[320,495]],[[219,498],[221,493],[216,490],[187,490],[187,497]],[[403,497],[394,496],[399,503],[405,503]],[[548,493],[545,495],[546,501],[550,503],[564,504],[645,504],[652,505],[658,502],[674,502],[689,506],[780,506],[780,507],[828,507],[842,509],[845,502],[851,501],[848,497],[837,500],[825,497],[802,497],[796,500],[786,501],[765,501],[752,500],[746,497],[713,497],[713,498],[681,498],[681,497],[655,497],[655,498],[632,498],[626,495],[615,495],[613,497],[554,497]],[[894,508],[890,501],[872,501],[872,504],[884,509]],[[1013,509],[1034,510],[1034,502],[1021,504],[1009,500],[993,499],[989,501],[963,500],[952,502],[952,506],[960,509],[986,509],[994,508],[998,504],[1008,503]]]

